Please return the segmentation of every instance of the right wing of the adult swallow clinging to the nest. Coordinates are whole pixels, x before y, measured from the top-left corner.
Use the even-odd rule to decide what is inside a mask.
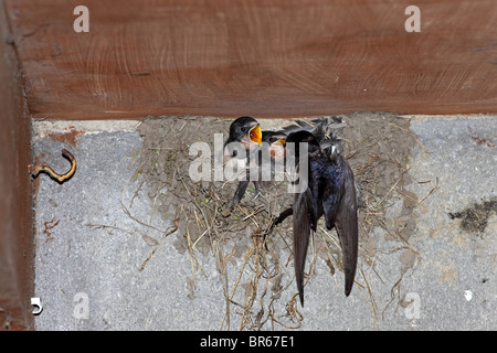
[[[343,180],[340,185],[341,200],[338,205],[335,226],[340,238],[340,245],[343,259],[345,271],[345,293],[350,295],[356,277],[357,256],[358,256],[358,220],[357,220],[357,199],[356,185],[353,183],[353,173],[350,165],[341,156],[338,156],[339,165],[342,168]]]

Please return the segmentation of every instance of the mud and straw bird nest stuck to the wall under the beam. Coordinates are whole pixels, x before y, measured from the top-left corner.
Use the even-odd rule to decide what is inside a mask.
[[[359,269],[372,266],[377,249],[368,237],[374,227],[387,229],[399,242],[399,248],[413,234],[412,211],[420,200],[405,185],[411,182],[411,150],[421,143],[409,130],[410,122],[404,117],[368,113],[324,118],[329,121],[327,132],[341,139],[339,151],[351,165],[359,185]],[[159,213],[165,221],[172,220],[169,232],[176,236],[172,244],[191,260],[192,275],[187,279],[191,298],[198,274],[203,271],[202,258],[215,257],[225,297],[220,329],[260,330],[264,325],[295,329],[300,327],[304,317],[297,306],[292,267],[290,220],[267,234],[273,218],[292,205],[289,182],[265,183],[256,199],[251,184],[242,202],[230,210],[236,182],[194,182],[190,178],[190,165],[198,158],[191,156],[191,145],[207,142],[214,151],[214,133],[224,133],[225,140],[231,121],[190,116],[145,118],[138,128],[142,147],[134,156],[135,179],[141,181],[139,189],[146,188],[152,200],[152,213]],[[260,122],[264,129],[292,124],[289,120]],[[396,201],[402,202],[401,214],[395,220],[387,220],[388,207]],[[324,222],[318,225],[306,280],[314,276],[318,257],[326,261],[331,275],[342,271],[336,232],[327,231]],[[366,277],[356,278],[356,286],[368,291]],[[378,317],[377,309],[373,315]],[[233,317],[240,320],[233,323]]]

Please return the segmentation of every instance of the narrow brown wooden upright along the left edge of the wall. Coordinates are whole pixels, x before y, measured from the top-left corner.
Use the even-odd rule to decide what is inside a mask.
[[[0,330],[34,328],[31,119],[0,0]]]

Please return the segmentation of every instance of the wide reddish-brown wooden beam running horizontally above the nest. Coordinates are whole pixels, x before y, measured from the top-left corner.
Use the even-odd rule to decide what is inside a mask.
[[[497,113],[497,1],[6,0],[34,118]]]

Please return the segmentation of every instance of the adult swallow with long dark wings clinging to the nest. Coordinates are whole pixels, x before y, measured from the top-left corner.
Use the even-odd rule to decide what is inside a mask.
[[[293,205],[295,276],[304,306],[304,267],[310,231],[316,232],[317,222],[324,215],[326,227],[337,229],[342,248],[345,293],[350,295],[356,276],[358,256],[357,199],[350,165],[339,153],[326,153],[309,131],[288,135],[286,143],[295,143],[297,171],[307,168],[307,188],[295,193]],[[299,158],[299,142],[308,143],[308,153]],[[305,158],[307,157],[307,158]],[[305,173],[298,173],[303,179]],[[288,215],[288,214],[287,214]],[[286,215],[286,216],[287,216]]]

